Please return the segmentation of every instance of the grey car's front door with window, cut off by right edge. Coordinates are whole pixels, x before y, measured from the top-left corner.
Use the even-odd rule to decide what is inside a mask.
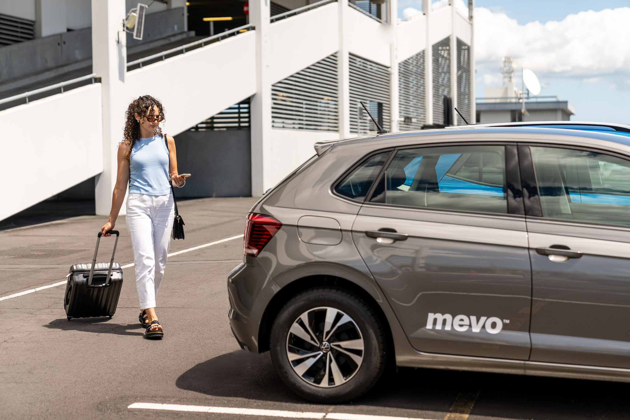
[[[519,153],[539,191],[527,216],[531,360],[630,368],[630,160],[554,145]]]

